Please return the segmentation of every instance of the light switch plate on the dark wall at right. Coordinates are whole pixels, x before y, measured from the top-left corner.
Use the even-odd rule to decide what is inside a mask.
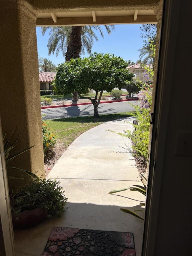
[[[178,131],[176,155],[192,156],[192,131]]]

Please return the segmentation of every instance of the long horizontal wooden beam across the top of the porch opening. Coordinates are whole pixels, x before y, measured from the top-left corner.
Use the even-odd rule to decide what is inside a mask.
[[[156,15],[138,15],[137,21],[133,16],[106,16],[97,17],[97,23],[92,17],[57,18],[55,24],[52,18],[38,18],[36,26],[86,26],[86,25],[110,25],[110,24],[157,24]]]

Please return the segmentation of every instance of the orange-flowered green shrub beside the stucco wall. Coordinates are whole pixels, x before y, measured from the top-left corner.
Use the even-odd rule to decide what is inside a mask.
[[[53,149],[53,146],[56,143],[56,135],[54,131],[47,127],[47,124],[42,121],[42,131],[43,131],[43,151],[44,157],[46,157]]]

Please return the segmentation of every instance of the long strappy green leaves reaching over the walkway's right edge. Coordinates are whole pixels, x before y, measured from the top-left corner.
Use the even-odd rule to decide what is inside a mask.
[[[147,181],[147,179],[144,176],[143,176],[143,178]],[[138,191],[141,194],[143,194],[144,196],[146,196],[146,186],[144,184],[143,184],[143,186],[141,186],[141,185],[133,185],[133,186],[134,187],[122,188],[122,189],[118,189],[118,190],[112,190],[112,191],[109,192],[109,194],[114,194],[114,193],[117,193],[117,192],[121,192],[121,191],[125,191],[125,190],[130,189],[131,191]],[[140,205],[141,206],[145,206],[145,203],[140,202]],[[135,216],[135,217],[137,217],[137,218],[139,218],[141,220],[144,220],[143,217],[141,217],[139,214],[136,213],[136,212],[145,212],[144,210],[137,209],[137,210],[131,211],[130,209],[126,209],[126,208],[120,208],[120,210],[122,212],[129,213],[129,214],[131,214],[131,215],[133,215],[133,216]]]

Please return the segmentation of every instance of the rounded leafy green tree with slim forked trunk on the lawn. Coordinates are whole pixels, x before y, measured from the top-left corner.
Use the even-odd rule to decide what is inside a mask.
[[[128,81],[132,81],[133,74],[126,67],[122,58],[109,53],[94,53],[88,58],[71,59],[58,65],[54,80],[55,91],[63,95],[76,91],[80,98],[91,101],[94,116],[98,117],[98,105],[103,91],[111,92],[115,87],[121,89]],[[95,90],[95,98],[82,96],[87,89]]]

